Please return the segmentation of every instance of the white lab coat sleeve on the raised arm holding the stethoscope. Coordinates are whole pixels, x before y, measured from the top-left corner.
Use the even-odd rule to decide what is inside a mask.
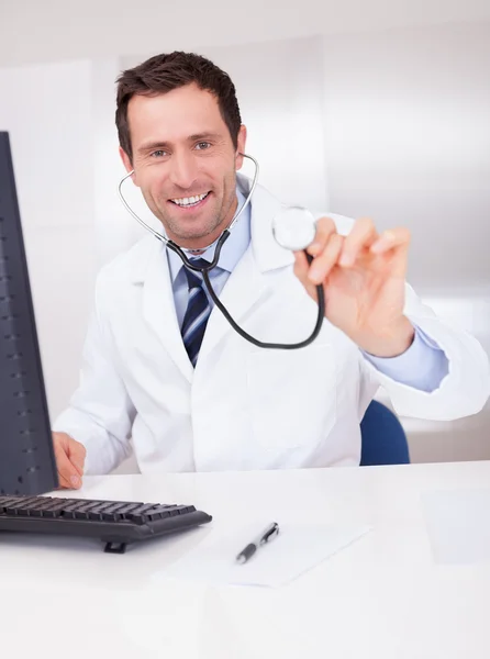
[[[404,314],[424,332],[427,340],[432,339],[435,347],[444,350],[448,359],[447,375],[436,389],[423,391],[382,373],[359,350],[363,390],[372,394],[377,386],[381,386],[401,416],[452,421],[480,412],[490,395],[490,369],[488,356],[478,340],[439,319],[410,284],[405,286]]]

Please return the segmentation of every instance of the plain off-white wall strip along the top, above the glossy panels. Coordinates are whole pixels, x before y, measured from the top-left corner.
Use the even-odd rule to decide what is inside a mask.
[[[488,0],[0,0],[0,66],[483,19]]]

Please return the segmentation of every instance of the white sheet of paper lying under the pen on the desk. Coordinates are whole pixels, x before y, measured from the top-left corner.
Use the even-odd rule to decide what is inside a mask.
[[[259,547],[246,563],[238,563],[236,555],[257,537],[263,530],[260,526],[247,526],[226,534],[213,532],[159,576],[274,588],[296,579],[370,530],[368,526],[353,525],[291,523],[279,526],[279,535]]]

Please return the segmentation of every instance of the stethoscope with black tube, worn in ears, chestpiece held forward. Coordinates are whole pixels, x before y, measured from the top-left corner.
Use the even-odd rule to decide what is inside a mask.
[[[304,340],[301,340],[301,342],[294,343],[294,344],[266,343],[266,342],[258,340],[257,338],[250,336],[247,332],[245,332],[245,330],[243,330],[233,320],[230,312],[224,306],[224,304],[221,302],[221,300],[214,292],[213,287],[211,286],[209,272],[218,265],[218,261],[220,260],[221,249],[222,249],[224,243],[226,242],[226,239],[230,237],[230,232],[236,225],[240,216],[242,215],[244,210],[247,208],[247,205],[250,203],[252,196],[257,186],[258,171],[259,171],[258,161],[253,156],[248,156],[246,154],[241,154],[241,156],[243,156],[244,158],[248,158],[255,165],[255,174],[254,174],[254,178],[253,178],[253,181],[250,185],[250,190],[249,190],[248,196],[245,199],[244,203],[238,209],[238,211],[235,213],[235,215],[232,219],[232,221],[230,222],[229,226],[222,232],[220,237],[216,238],[216,241],[214,241],[210,245],[208,245],[208,247],[203,247],[202,249],[199,249],[199,252],[203,253],[207,249],[209,249],[212,245],[215,244],[213,260],[205,267],[199,267],[199,266],[196,266],[194,264],[192,264],[189,260],[189,258],[186,256],[186,253],[192,252],[191,249],[179,247],[179,245],[174,243],[174,241],[170,241],[163,234],[155,231],[152,226],[149,226],[149,224],[146,224],[146,222],[144,222],[133,211],[133,209],[130,206],[130,204],[126,202],[126,200],[124,199],[124,196],[122,193],[122,186],[126,179],[129,179],[131,176],[133,176],[134,169],[121,179],[119,187],[118,187],[118,193],[119,193],[119,197],[120,197],[124,208],[132,215],[132,217],[134,217],[136,220],[136,222],[138,222],[142,226],[144,226],[147,231],[149,231],[149,233],[152,233],[158,241],[164,243],[168,247],[168,249],[171,249],[172,252],[178,254],[186,268],[188,268],[189,270],[193,270],[194,272],[201,273],[202,280],[204,281],[205,288],[208,289],[212,301],[218,306],[218,309],[221,311],[221,313],[224,315],[224,317],[227,320],[227,322],[233,327],[233,330],[235,330],[235,332],[237,332],[243,338],[245,338],[246,340],[248,340],[249,343],[254,344],[255,346],[257,346],[259,348],[275,348],[275,349],[282,349],[282,350],[294,350],[297,348],[305,348],[311,343],[313,343],[313,340],[318,337],[318,335],[320,334],[320,331],[322,328],[322,325],[323,325],[323,319],[325,316],[325,294],[324,294],[323,286],[321,286],[321,284],[316,286],[319,312],[318,312],[316,323],[313,328],[313,332]],[[272,222],[272,234],[274,234],[276,242],[278,243],[278,245],[283,247],[285,249],[290,249],[292,252],[300,252],[301,249],[305,250],[305,248],[313,242],[315,233],[316,233],[316,225],[315,225],[314,217],[310,213],[310,211],[308,211],[308,209],[304,209],[302,206],[285,206],[276,215],[276,217],[274,219],[274,222]],[[310,254],[308,254],[308,252],[304,252],[304,253],[307,255],[308,261],[311,263],[312,257],[310,256]]]

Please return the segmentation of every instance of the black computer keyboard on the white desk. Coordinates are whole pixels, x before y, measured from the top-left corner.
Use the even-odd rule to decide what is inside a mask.
[[[96,501],[54,496],[0,496],[0,530],[97,537],[104,551],[211,522],[193,505]],[[0,538],[1,539],[1,538]]]

